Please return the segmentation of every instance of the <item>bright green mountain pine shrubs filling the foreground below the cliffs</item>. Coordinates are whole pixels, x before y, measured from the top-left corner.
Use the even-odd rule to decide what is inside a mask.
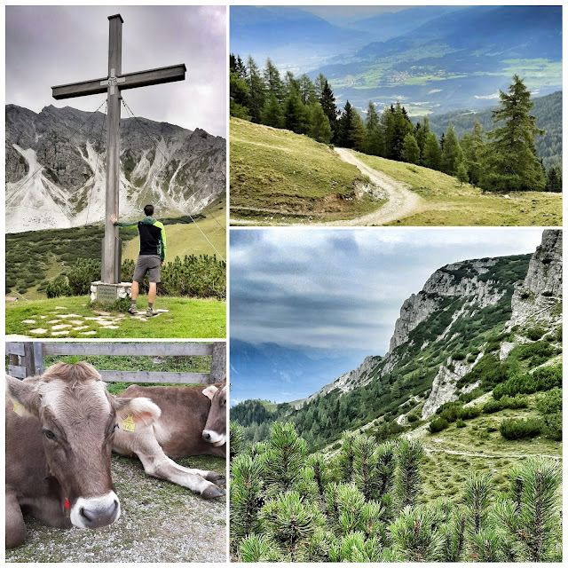
[[[266,442],[233,449],[239,450],[230,486],[234,560],[562,559],[556,461],[519,463],[504,493],[495,493],[489,475],[471,475],[459,503],[419,503],[424,450],[417,441],[378,444],[350,432],[335,454],[308,456],[294,428],[277,422]]]

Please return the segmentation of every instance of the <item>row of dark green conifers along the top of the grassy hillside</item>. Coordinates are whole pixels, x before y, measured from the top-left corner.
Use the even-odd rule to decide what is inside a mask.
[[[457,177],[487,192],[562,191],[562,170],[557,165],[559,99],[544,105],[556,110],[556,125],[549,138],[536,125],[533,100],[525,83],[513,75],[507,92],[500,92],[501,104],[491,112],[490,130],[478,121],[459,137],[452,122],[438,139],[428,118],[415,124],[398,101],[377,114],[370,100],[365,122],[347,100],[340,111],[327,78],[315,82],[308,75],[285,78],[266,60],[264,70],[248,57],[231,55],[231,114],[235,117],[305,134],[317,142],[353,148],[364,154],[398,162],[422,165]],[[544,112],[544,111],[543,111]],[[486,127],[487,128],[487,127]],[[551,158],[548,170],[536,153],[536,139]],[[264,150],[266,160],[271,154]],[[233,165],[233,164],[232,164]]]

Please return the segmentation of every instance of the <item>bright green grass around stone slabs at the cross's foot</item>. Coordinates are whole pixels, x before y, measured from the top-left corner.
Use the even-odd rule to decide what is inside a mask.
[[[6,334],[30,335],[29,331],[38,327],[46,328],[43,321],[55,318],[60,311],[56,306],[67,308],[67,312],[81,317],[92,317],[96,314],[89,307],[89,296],[59,297],[51,300],[35,302],[18,302],[6,304]],[[146,296],[138,299],[138,309],[144,309]],[[97,330],[97,335],[81,335],[71,332],[67,337],[80,338],[221,338],[226,335],[226,304],[217,300],[196,300],[187,298],[170,298],[159,296],[154,304],[156,309],[165,308],[170,312],[149,319],[138,320],[126,315],[118,329],[103,329],[92,320],[84,325],[89,328],[81,331]],[[41,316],[46,316],[42,318]],[[25,319],[33,319],[35,323],[22,323]],[[34,334],[34,337],[45,338],[51,335]],[[61,336],[59,336],[59,339]]]

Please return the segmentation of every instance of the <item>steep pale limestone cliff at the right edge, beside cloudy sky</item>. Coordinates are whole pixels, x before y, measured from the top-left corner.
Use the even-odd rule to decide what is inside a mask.
[[[561,322],[562,231],[542,233],[523,285],[513,294],[509,328],[538,323]],[[556,313],[558,312],[558,313]]]

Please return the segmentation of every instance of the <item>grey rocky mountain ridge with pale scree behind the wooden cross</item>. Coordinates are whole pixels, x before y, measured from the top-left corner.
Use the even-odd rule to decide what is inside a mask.
[[[6,105],[6,231],[101,221],[105,164],[105,114]],[[138,218],[147,202],[160,217],[201,211],[225,192],[225,171],[225,138],[122,118],[121,218]]]

